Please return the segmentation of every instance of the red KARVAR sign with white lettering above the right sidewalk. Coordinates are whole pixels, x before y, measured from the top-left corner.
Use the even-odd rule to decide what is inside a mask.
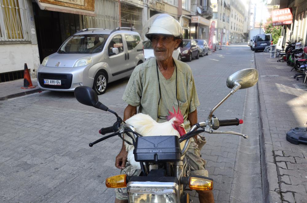
[[[292,18],[292,12],[289,8],[272,10],[273,26],[292,24]]]

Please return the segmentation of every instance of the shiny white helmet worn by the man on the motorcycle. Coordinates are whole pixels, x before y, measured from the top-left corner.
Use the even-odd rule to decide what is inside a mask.
[[[148,28],[149,30],[146,32]],[[154,34],[174,36],[181,39],[179,46],[183,47],[182,27],[175,18],[168,14],[159,13],[149,18],[144,25],[143,33],[146,33],[145,36],[149,40],[152,40],[152,35]]]

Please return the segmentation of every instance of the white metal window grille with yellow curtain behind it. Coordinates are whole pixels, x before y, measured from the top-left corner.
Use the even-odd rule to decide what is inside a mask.
[[[26,0],[0,0],[0,41],[30,41]]]

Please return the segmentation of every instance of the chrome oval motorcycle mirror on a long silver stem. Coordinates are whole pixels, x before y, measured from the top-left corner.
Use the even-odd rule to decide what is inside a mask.
[[[254,68],[246,68],[235,72],[227,78],[227,87],[232,89],[236,86],[235,81],[240,83],[240,89],[252,87],[258,82],[258,71]]]

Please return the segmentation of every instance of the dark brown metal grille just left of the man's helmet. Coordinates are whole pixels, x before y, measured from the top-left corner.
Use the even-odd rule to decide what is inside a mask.
[[[136,32],[142,32],[142,9],[130,6],[127,4],[121,4],[121,26],[135,28]]]

